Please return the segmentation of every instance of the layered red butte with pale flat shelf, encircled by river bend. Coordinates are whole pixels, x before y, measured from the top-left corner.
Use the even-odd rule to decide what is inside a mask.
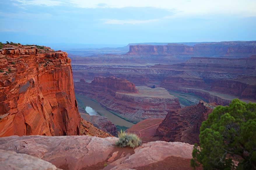
[[[178,98],[164,88],[135,87],[125,79],[96,77],[92,83],[81,79],[74,85],[76,93],[84,94],[132,121],[164,118],[170,110],[180,108]]]

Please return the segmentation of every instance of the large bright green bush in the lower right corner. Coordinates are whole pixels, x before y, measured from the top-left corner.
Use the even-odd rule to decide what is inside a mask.
[[[218,106],[200,128],[200,145],[194,145],[191,166],[204,169],[256,169],[256,103],[234,99]]]

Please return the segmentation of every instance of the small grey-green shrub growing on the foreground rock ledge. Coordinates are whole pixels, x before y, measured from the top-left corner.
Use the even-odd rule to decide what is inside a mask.
[[[116,146],[119,147],[131,147],[134,148],[141,144],[141,139],[132,133],[126,133],[125,131],[121,130],[118,133],[119,140],[115,143]]]

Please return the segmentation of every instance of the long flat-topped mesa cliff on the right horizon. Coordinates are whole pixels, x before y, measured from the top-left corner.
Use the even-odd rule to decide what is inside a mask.
[[[250,57],[256,54],[255,41],[213,42],[187,46],[183,44],[168,45],[131,45],[127,54],[132,55],[173,55],[201,57]]]

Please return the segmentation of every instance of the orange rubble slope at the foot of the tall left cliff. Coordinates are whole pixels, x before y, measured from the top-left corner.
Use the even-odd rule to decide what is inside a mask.
[[[96,137],[112,136],[106,133],[105,131],[96,128],[95,126],[93,126],[93,124],[83,119],[81,120],[80,135],[90,135],[90,136],[96,136]]]

